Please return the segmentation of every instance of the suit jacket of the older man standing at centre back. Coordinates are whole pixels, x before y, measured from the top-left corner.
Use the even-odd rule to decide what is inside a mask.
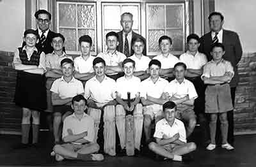
[[[117,47],[117,50],[118,50],[118,52],[122,52],[124,54],[123,31],[119,31],[117,34],[118,34],[118,41],[119,41],[119,45]],[[144,43],[145,43],[145,46],[144,46],[142,54],[146,55],[147,54],[147,51],[146,51],[146,48],[147,48],[147,46],[146,46],[146,39],[143,36],[141,36],[140,34],[137,34],[134,31],[132,31],[132,38],[137,38],[138,36],[140,36],[143,39]],[[131,47],[131,46],[129,46],[129,47]],[[133,55],[133,54],[134,54],[134,51],[131,48],[130,56]]]

